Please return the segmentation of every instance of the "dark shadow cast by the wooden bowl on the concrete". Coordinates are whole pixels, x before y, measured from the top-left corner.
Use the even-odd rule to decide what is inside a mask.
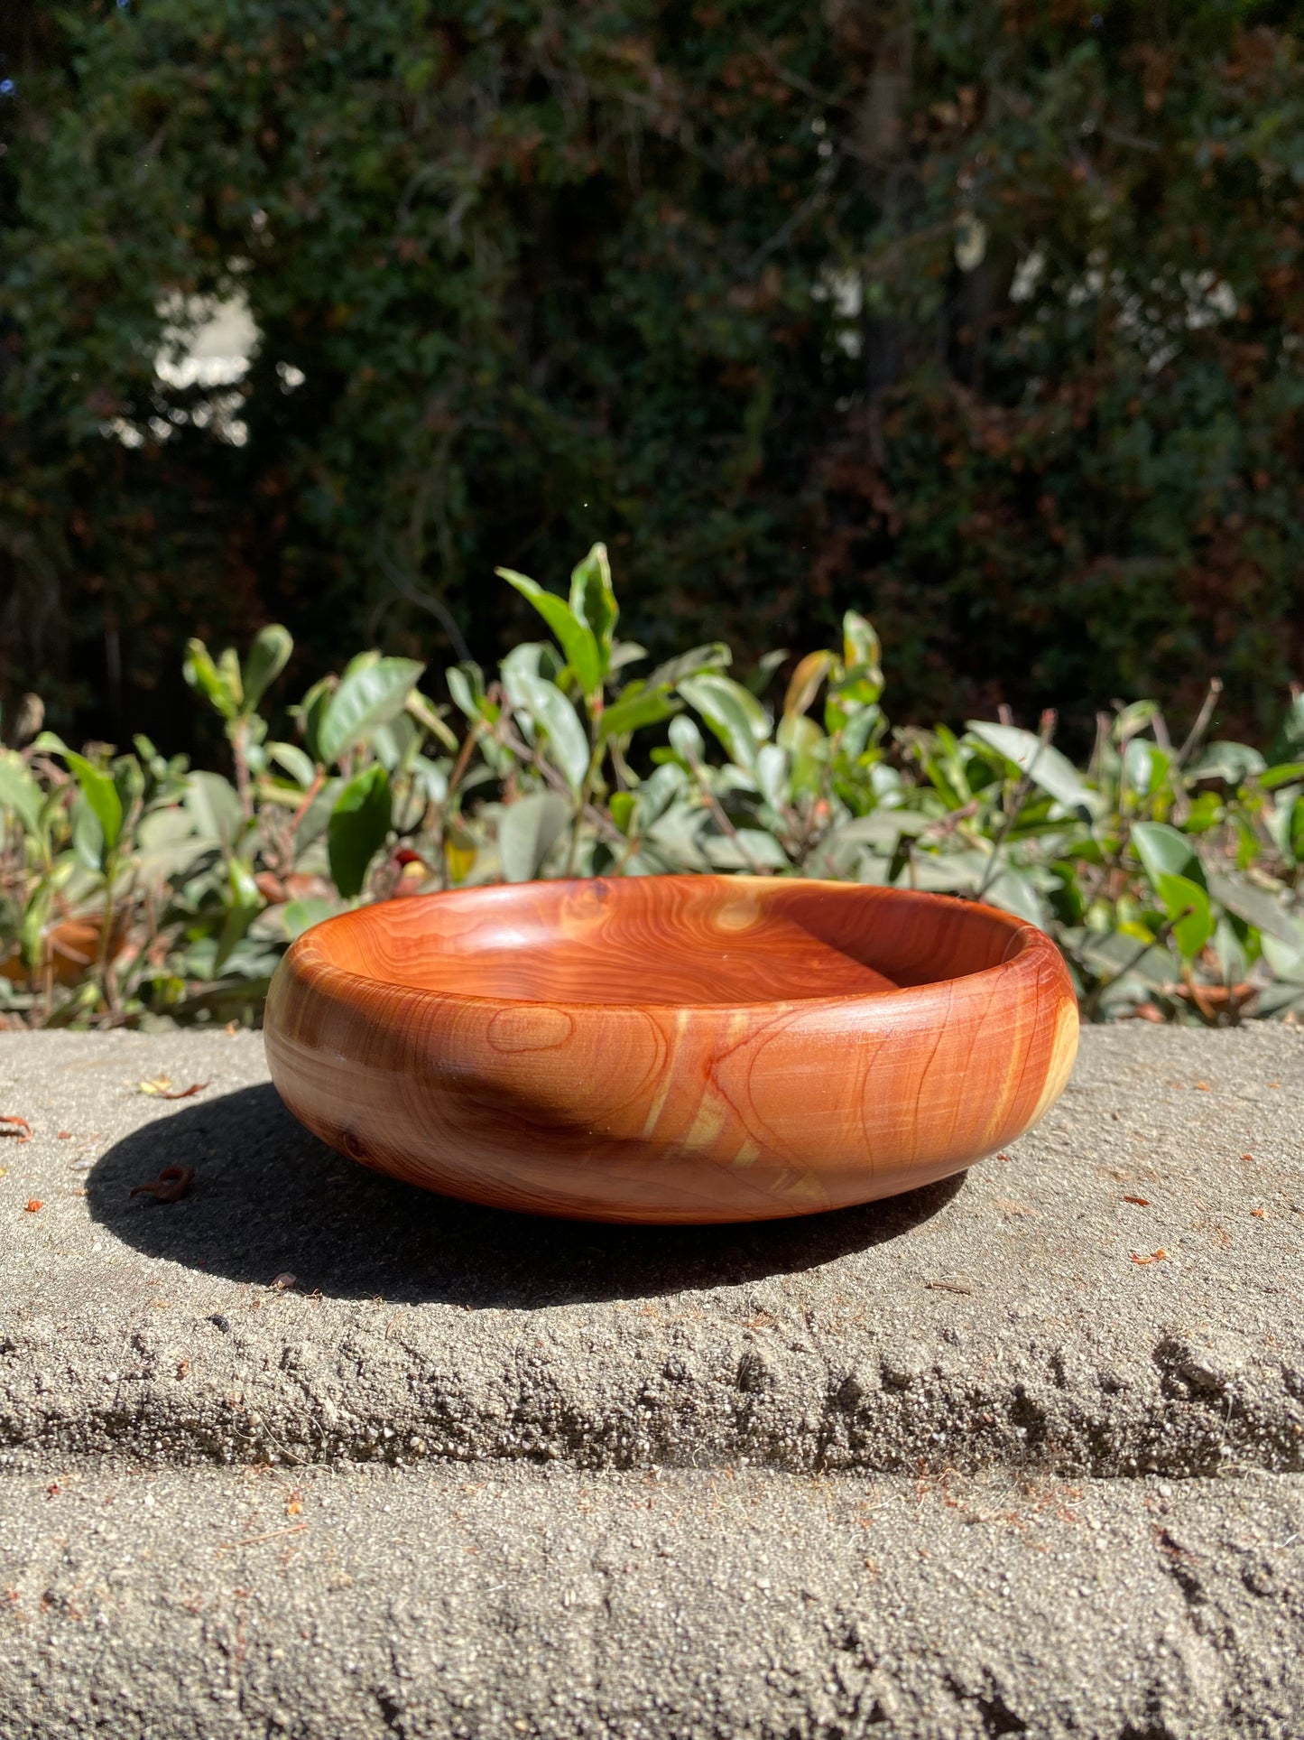
[[[195,1171],[179,1202],[132,1197],[165,1166]],[[961,1188],[800,1220],[636,1227],[537,1220],[433,1195],[343,1159],[275,1088],[243,1088],[115,1143],[87,1178],[92,1220],[148,1256],[266,1286],[396,1303],[534,1308],[739,1286],[899,1239]]]

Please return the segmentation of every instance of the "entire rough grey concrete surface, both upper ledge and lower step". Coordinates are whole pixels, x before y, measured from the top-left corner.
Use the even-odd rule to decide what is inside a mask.
[[[961,1180],[605,1228],[5,1035],[0,1737],[1299,1740],[1302,1089],[1094,1028]]]

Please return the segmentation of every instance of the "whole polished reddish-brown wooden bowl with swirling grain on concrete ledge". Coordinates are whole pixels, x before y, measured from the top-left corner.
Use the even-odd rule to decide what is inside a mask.
[[[1073,1068],[1054,943],[989,907],[768,877],[529,882],[301,936],[271,1075],[410,1183],[584,1220],[810,1215],[1012,1141]]]

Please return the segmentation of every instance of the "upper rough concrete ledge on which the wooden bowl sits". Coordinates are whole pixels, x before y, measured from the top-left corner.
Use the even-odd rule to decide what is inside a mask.
[[[165,1075],[163,1101],[139,1084]],[[965,1178],[758,1227],[450,1202],[254,1034],[5,1035],[0,1467],[1304,1469],[1304,1035],[1092,1028]],[[9,1126],[17,1128],[17,1126]],[[132,1188],[191,1168],[193,1194]],[[33,1208],[31,1204],[40,1204]]]

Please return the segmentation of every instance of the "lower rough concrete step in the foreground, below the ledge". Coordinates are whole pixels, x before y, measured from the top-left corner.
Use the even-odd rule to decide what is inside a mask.
[[[1304,1479],[10,1476],[0,1735],[1297,1740]]]

